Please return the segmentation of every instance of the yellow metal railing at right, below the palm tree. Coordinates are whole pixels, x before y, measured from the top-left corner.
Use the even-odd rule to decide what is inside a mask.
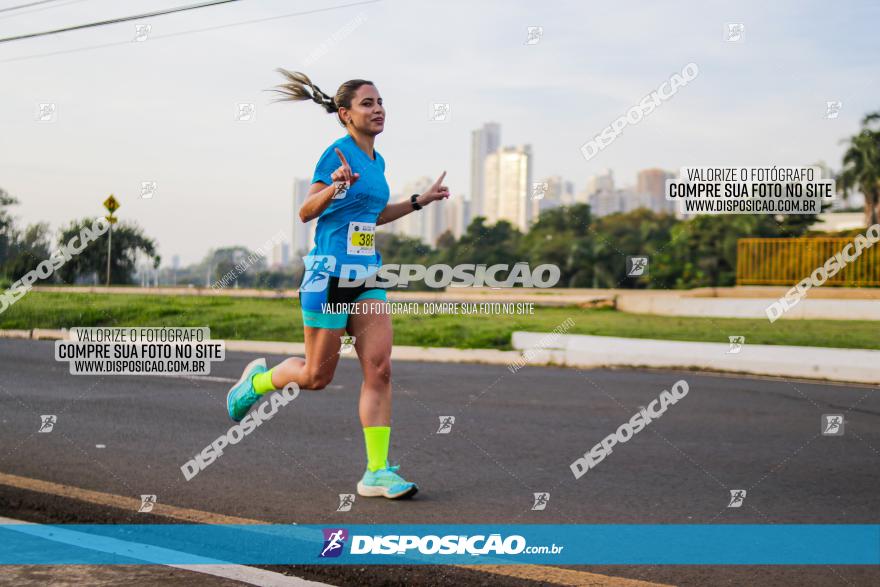
[[[737,285],[794,285],[853,242],[854,237],[741,238],[736,247]],[[878,243],[880,244],[880,243]],[[852,252],[850,249],[848,252]],[[825,286],[880,286],[880,246],[862,250]]]

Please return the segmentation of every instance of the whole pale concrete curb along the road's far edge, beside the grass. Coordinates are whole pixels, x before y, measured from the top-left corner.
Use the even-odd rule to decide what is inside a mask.
[[[63,330],[42,328],[0,330],[0,338],[11,339],[60,340],[65,335]],[[224,343],[228,351],[305,354],[305,344],[301,342],[225,340]],[[516,372],[517,365],[582,369],[648,367],[880,383],[880,351],[874,350],[756,345],[746,341],[739,353],[730,354],[730,345],[723,343],[534,332],[514,332],[513,347],[517,350],[395,345],[391,357],[398,361],[507,365],[512,372]],[[352,352],[342,358],[357,359],[357,355]]]

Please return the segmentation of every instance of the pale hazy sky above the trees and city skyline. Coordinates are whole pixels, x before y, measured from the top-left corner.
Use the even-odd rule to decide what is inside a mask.
[[[0,13],[0,37],[194,3],[62,0]],[[392,193],[443,170],[465,193],[470,131],[486,121],[505,145],[532,145],[535,179],[562,175],[578,191],[606,167],[619,185],[646,167],[839,168],[840,139],[880,110],[878,22],[871,1],[244,0],[0,43],[0,187],[22,223],[53,229],[102,213],[112,192],[163,264],[289,235],[293,178],[311,177],[344,131],[316,104],[270,104],[276,67],[328,93],[376,83]],[[145,42],[132,42],[136,23],[152,26]],[[742,42],[725,40],[727,23],[745,25]],[[543,27],[535,45],[529,26]],[[584,159],[584,142],[689,62],[697,79]],[[837,119],[829,100],[843,102]],[[57,105],[55,122],[35,120],[40,102]],[[235,120],[240,102],[256,104],[254,122]],[[449,121],[429,120],[433,102],[450,104]],[[155,197],[141,199],[142,181],[158,182]]]

